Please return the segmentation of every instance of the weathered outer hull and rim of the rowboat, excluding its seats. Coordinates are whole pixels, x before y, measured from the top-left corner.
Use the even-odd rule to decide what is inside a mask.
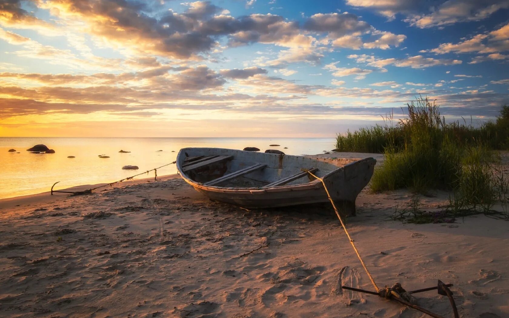
[[[190,149],[187,149],[189,151]],[[203,149],[206,154],[206,149]],[[271,188],[233,188],[233,187],[211,187],[203,183],[196,182],[189,178],[182,170],[182,163],[186,149],[179,152],[177,157],[178,169],[182,178],[189,183],[194,189],[203,193],[212,200],[221,201],[232,205],[245,208],[275,208],[295,206],[302,204],[313,204],[328,202],[329,197],[324,189],[322,182],[319,180],[307,183],[276,186]],[[223,152],[228,153],[228,152]],[[298,162],[297,166],[319,165],[326,159],[312,159],[303,156],[277,155],[250,153],[232,150],[233,156],[245,155],[253,156],[254,162],[272,162],[278,161],[278,164],[284,165],[286,162]],[[279,158],[279,159],[278,159]],[[284,160],[286,161],[284,161]],[[305,163],[302,163],[303,160]],[[309,161],[309,162],[308,162]],[[313,162],[315,161],[315,162]],[[325,183],[329,195],[335,201],[338,208],[344,210],[344,214],[352,215],[355,213],[355,199],[359,192],[369,183],[373,175],[376,160],[374,158],[365,158],[358,161],[344,164],[346,161],[330,160],[332,164],[337,165],[331,168],[325,176]],[[180,164],[179,164],[180,163]],[[296,170],[297,166],[292,167]],[[312,178],[312,177],[311,177]]]

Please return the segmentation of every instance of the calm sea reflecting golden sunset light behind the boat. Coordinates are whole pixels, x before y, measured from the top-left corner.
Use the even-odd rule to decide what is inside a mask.
[[[179,149],[186,147],[258,147],[262,152],[266,149],[279,149],[288,155],[313,155],[333,149],[334,141],[334,138],[0,137],[0,198],[49,191],[56,181],[60,183],[55,189],[114,182],[170,163],[177,158]],[[40,143],[55,150],[55,153],[31,154],[26,151]],[[269,147],[270,144],[281,146]],[[19,154],[10,153],[9,149],[15,149]],[[120,150],[130,153],[119,153]],[[101,159],[98,155],[110,158]],[[137,165],[139,170],[122,170],[124,165]],[[157,174],[163,176],[176,172],[175,165],[169,165],[158,170]],[[138,178],[153,176],[151,172],[149,176]]]

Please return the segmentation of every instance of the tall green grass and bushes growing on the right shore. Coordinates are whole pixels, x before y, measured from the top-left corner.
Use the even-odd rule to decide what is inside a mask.
[[[420,211],[417,199],[407,208],[397,208],[393,218],[435,222],[472,213],[489,214],[497,203],[504,208],[509,185],[502,169],[493,164],[493,150],[509,146],[509,106],[502,106],[496,122],[479,127],[466,121],[446,124],[439,106],[428,98],[417,98],[407,109],[408,117],[395,125],[391,114],[384,126],[336,138],[337,151],[384,154],[371,180],[375,192],[406,188],[417,193],[430,189],[452,193],[448,208],[440,215]]]

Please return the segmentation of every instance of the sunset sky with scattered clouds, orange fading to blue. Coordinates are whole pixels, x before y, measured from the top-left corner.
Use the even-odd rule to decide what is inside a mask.
[[[478,124],[508,89],[507,0],[0,0],[0,136],[334,137],[419,95]]]

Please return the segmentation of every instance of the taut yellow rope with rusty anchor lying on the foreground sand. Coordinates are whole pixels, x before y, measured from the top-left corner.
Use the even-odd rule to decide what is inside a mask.
[[[456,308],[454,298],[452,297],[453,293],[448,288],[448,287],[452,286],[453,284],[444,284],[439,280],[437,287],[423,288],[422,290],[417,290],[417,291],[413,291],[413,292],[407,292],[399,282],[392,285],[392,287],[389,287],[388,285],[386,285],[384,288],[379,288],[375,282],[375,279],[371,275],[370,271],[367,269],[366,264],[362,260],[362,257],[360,256],[360,253],[357,250],[357,247],[355,247],[355,244],[353,243],[354,240],[348,233],[345,222],[343,221],[343,218],[341,217],[340,212],[338,211],[336,205],[334,204],[334,200],[330,196],[329,190],[327,189],[327,186],[325,185],[323,178],[320,178],[320,177],[314,175],[313,172],[309,171],[309,169],[302,168],[300,170],[307,172],[309,175],[313,176],[314,178],[316,178],[317,180],[320,180],[320,182],[322,182],[323,188],[325,189],[325,192],[327,193],[327,197],[329,198],[329,201],[332,204],[332,208],[334,208],[334,212],[336,213],[337,218],[340,220],[341,226],[345,230],[345,234],[347,235],[348,240],[350,241],[350,244],[352,245],[355,253],[357,254],[357,257],[359,258],[360,264],[364,268],[364,271],[366,272],[367,277],[370,278],[370,281],[373,284],[373,287],[375,287],[375,290],[377,292],[365,291],[365,290],[361,290],[359,288],[353,288],[353,287],[347,287],[347,286],[342,286],[342,288],[356,291],[356,292],[366,293],[366,294],[378,295],[378,296],[388,299],[388,300],[395,300],[395,301],[402,303],[403,305],[405,305],[407,307],[419,310],[420,312],[426,313],[432,317],[443,318],[442,316],[440,316],[436,313],[433,313],[425,308],[415,305],[414,304],[415,297],[412,296],[412,294],[414,294],[414,293],[420,293],[420,292],[431,291],[431,290],[436,289],[436,290],[438,290],[440,295],[446,295],[449,298],[451,306],[453,307],[454,317],[459,318],[458,309]]]

